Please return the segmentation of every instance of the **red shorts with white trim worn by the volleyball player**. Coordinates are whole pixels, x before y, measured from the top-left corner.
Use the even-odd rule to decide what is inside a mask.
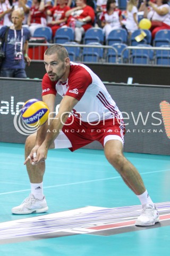
[[[98,124],[97,124],[98,123]],[[80,119],[68,118],[57,136],[55,148],[69,148],[71,151],[82,148],[93,141],[99,141],[103,147],[108,140],[120,140],[124,144],[125,127],[122,119],[80,123]]]

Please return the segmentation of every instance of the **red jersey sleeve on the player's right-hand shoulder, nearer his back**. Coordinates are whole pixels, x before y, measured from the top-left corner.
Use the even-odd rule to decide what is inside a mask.
[[[78,70],[72,71],[68,81],[69,89],[65,95],[80,100],[91,83],[91,75],[86,69],[79,67]]]

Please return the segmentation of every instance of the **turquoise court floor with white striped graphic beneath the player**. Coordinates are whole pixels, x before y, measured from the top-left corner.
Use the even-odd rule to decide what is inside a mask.
[[[44,214],[14,215],[30,193],[24,145],[0,143],[1,256],[169,255],[170,156],[125,153],[137,167],[160,214],[153,227],[135,227],[139,199],[102,150],[49,150]]]

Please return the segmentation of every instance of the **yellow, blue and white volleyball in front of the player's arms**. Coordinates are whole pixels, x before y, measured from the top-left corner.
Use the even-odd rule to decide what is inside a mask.
[[[26,101],[22,107],[22,119],[28,126],[41,126],[48,119],[49,109],[45,102],[38,99]]]

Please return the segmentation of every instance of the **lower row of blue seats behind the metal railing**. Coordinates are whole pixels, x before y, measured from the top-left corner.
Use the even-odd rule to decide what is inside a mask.
[[[65,44],[71,61],[100,62],[105,59],[109,63],[150,64],[154,62],[158,65],[170,65],[170,50],[154,51],[148,44],[141,44],[139,45],[140,49],[130,50],[126,44],[115,43],[112,48],[104,50],[100,43],[89,43],[89,47],[83,47],[82,52],[80,46],[75,42],[66,42]],[[94,47],[94,45],[101,47]],[[145,49],[142,49],[142,46],[145,46]]]

